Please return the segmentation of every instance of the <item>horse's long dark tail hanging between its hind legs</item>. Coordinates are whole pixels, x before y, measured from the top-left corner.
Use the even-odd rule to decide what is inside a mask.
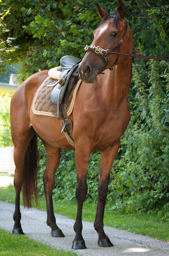
[[[31,139],[26,150],[24,161],[24,178],[22,183],[22,196],[24,206],[31,207],[32,200],[35,200],[37,205],[37,173],[39,165],[39,154],[37,148],[37,135]]]

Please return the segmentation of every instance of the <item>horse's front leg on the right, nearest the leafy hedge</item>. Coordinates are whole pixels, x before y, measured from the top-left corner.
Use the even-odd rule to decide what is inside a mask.
[[[114,158],[119,150],[119,141],[112,148],[107,148],[101,151],[100,165],[99,165],[99,183],[98,183],[98,202],[96,218],[94,222],[94,228],[98,233],[99,239],[97,241],[98,245],[101,247],[110,247],[113,244],[110,239],[106,236],[103,229],[103,217],[105,210],[105,202],[107,198],[108,182],[110,176],[110,170],[114,161]]]

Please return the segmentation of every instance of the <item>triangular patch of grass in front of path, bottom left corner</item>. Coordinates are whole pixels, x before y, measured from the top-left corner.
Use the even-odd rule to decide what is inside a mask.
[[[48,245],[29,239],[26,236],[13,236],[0,229],[0,255],[6,256],[75,256],[76,253],[53,249]]]

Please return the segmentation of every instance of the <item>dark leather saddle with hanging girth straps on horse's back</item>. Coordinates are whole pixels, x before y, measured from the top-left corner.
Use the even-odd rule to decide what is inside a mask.
[[[58,79],[58,81],[50,86],[55,86],[51,92],[50,100],[53,104],[57,105],[57,119],[62,119],[61,126],[62,131],[66,135],[66,138],[73,147],[75,143],[72,137],[73,128],[72,122],[68,119],[66,112],[66,100],[73,88],[73,85],[77,82],[78,78],[78,66],[81,59],[74,56],[63,56],[60,59],[60,66],[49,70],[48,75],[52,78]],[[56,71],[57,72],[56,72]],[[73,144],[72,144],[73,143]]]

